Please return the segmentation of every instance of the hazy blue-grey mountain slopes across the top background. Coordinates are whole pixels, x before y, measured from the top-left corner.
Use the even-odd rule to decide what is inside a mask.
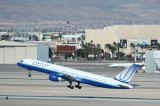
[[[0,24],[160,24],[159,0],[0,0]]]

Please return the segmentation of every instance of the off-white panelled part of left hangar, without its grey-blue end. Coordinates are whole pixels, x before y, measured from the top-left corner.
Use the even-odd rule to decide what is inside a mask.
[[[0,64],[16,64],[26,58],[37,59],[37,44],[0,41]]]

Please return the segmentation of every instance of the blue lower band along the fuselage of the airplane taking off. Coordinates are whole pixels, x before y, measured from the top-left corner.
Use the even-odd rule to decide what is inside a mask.
[[[58,75],[61,75],[61,74],[70,75],[67,73],[63,73],[63,72],[59,72],[59,71],[55,71],[55,70],[51,70],[51,69],[46,69],[45,67],[39,67],[39,66],[35,66],[35,65],[26,64],[26,63],[24,64],[23,62],[18,62],[17,65],[20,67],[26,68],[28,70],[35,70],[35,71],[39,71],[39,72],[43,72],[43,73],[47,73],[47,74],[55,73]],[[81,76],[73,76],[73,75],[70,75],[70,76],[72,76],[74,78],[80,77],[80,82],[84,83],[84,84],[89,84],[89,85],[104,87],[104,88],[121,89],[121,87],[119,87],[118,85],[112,85],[112,84],[104,83],[101,81],[97,81],[97,80],[93,80],[93,79],[89,79],[89,78],[84,78]]]

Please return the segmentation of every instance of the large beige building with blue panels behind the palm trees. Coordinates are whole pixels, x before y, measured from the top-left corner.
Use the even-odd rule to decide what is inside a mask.
[[[160,25],[115,25],[104,29],[86,29],[86,42],[93,41],[105,50],[105,44],[123,43],[123,52],[131,53],[131,43],[156,44],[160,43]],[[139,52],[146,49],[139,48]],[[122,49],[120,49],[122,51]]]

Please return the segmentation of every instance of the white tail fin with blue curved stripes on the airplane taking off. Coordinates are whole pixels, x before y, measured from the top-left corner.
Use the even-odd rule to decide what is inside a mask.
[[[114,79],[124,83],[129,83],[138,67],[138,64],[133,64],[129,68],[126,68],[124,71],[119,73]]]

